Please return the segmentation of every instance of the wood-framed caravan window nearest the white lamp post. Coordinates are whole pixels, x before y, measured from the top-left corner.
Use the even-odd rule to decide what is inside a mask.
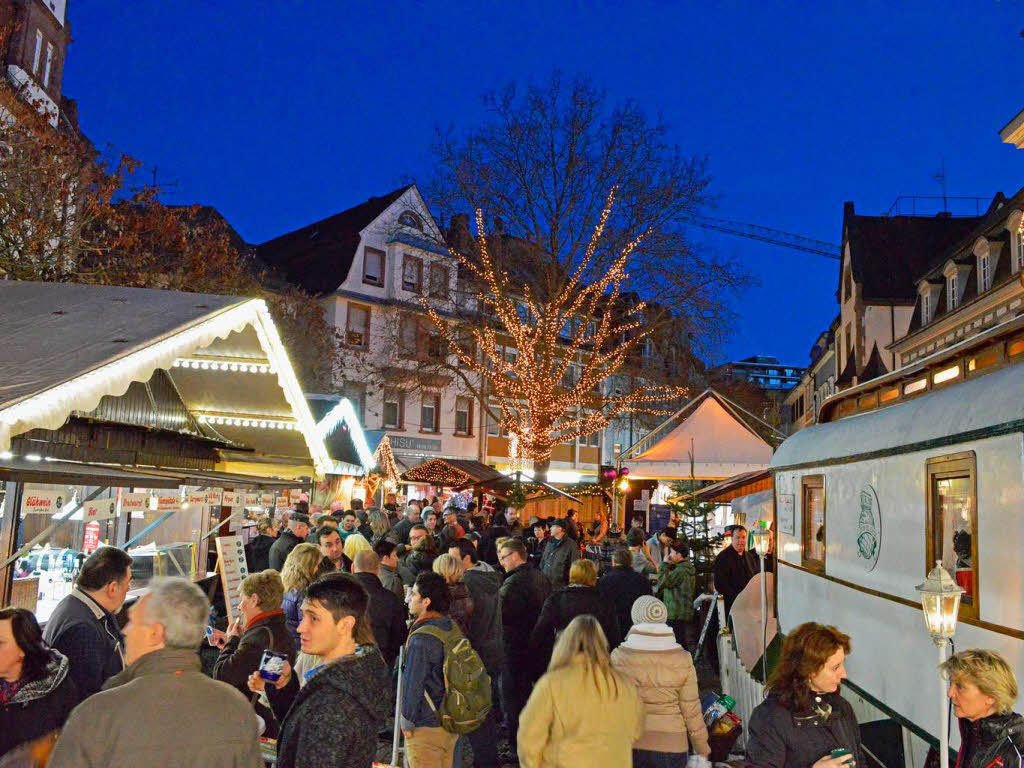
[[[974,452],[928,462],[925,572],[942,561],[964,589],[961,615],[978,617],[978,486]]]

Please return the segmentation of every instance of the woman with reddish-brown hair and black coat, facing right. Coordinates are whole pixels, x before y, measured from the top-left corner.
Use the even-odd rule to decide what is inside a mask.
[[[850,638],[809,622],[785,638],[768,697],[751,715],[745,768],[864,766],[860,728],[840,694]]]

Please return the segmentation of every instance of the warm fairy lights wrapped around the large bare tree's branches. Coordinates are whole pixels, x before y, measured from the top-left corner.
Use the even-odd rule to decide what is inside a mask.
[[[529,285],[513,285],[508,272],[495,264],[483,213],[476,211],[479,258],[450,249],[453,258],[482,287],[477,300],[487,310],[484,314],[495,321],[470,330],[472,347],[465,343],[465,326],[442,319],[423,301],[459,362],[486,382],[488,394],[498,404],[502,429],[515,435],[517,455],[537,463],[550,459],[556,445],[594,434],[622,415],[667,415],[671,411],[664,403],[685,396],[687,391],[669,385],[638,385],[625,394],[600,391],[600,384],[628,361],[653,330],[644,323],[647,303],[628,303],[621,297],[629,276],[629,257],[646,233],[628,243],[603,275],[587,280],[615,193],[612,187],[587,250],[565,287],[543,299]],[[577,323],[579,317],[598,318],[596,328]],[[566,327],[570,329],[568,343],[561,340]],[[510,345],[502,337],[511,337],[518,350],[515,359],[507,358],[505,348]],[[566,380],[570,367],[579,375]]]

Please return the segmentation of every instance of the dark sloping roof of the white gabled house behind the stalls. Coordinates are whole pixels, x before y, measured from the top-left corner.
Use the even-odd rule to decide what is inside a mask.
[[[410,189],[415,190],[415,184],[370,198],[326,219],[268,240],[256,247],[256,254],[306,291],[331,293],[348,276],[359,248],[360,232]]]

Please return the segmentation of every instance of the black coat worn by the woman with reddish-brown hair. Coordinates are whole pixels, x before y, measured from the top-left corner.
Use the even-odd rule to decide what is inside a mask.
[[[751,713],[744,768],[810,768],[838,749],[852,752],[858,766],[869,765],[850,702],[836,692],[812,696],[811,703],[817,711],[793,713],[769,693]]]

